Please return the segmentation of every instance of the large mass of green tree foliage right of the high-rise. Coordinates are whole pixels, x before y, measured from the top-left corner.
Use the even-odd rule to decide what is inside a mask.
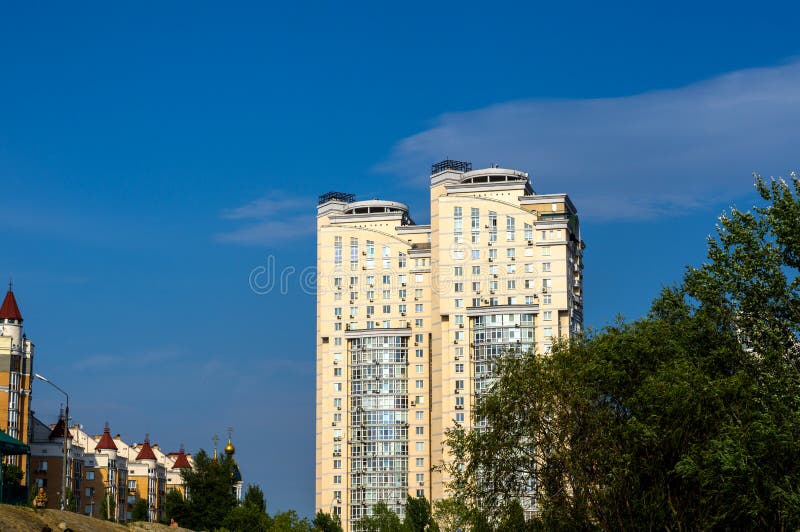
[[[437,505],[442,528],[800,526],[800,181],[756,187],[769,205],[723,216],[646,318],[500,363],[489,430],[448,433],[475,504]],[[532,492],[523,525],[509,501]]]

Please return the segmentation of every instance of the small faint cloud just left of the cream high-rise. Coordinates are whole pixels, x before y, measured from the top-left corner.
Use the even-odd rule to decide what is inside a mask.
[[[313,234],[316,230],[313,205],[310,199],[289,198],[276,193],[226,209],[222,218],[246,221],[246,224],[217,233],[215,239],[229,244],[257,246]]]

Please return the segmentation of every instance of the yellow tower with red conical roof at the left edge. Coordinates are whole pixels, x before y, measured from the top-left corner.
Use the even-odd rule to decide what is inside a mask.
[[[0,429],[29,443],[34,346],[23,332],[22,321],[9,283],[0,305]],[[5,461],[27,471],[26,456],[9,456]]]

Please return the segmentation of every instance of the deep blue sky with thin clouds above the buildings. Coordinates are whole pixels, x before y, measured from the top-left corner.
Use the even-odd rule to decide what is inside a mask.
[[[432,162],[526,170],[582,214],[599,327],[702,261],[752,172],[800,166],[790,2],[0,7],[0,277],[36,370],[90,432],[233,426],[270,511],[313,512],[318,194],[424,222]],[[268,260],[295,274],[257,294]]]

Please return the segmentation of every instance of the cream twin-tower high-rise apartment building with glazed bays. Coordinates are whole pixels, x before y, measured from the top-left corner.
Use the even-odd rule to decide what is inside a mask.
[[[345,530],[406,495],[446,496],[444,431],[492,362],[547,352],[583,323],[577,211],[528,174],[433,165],[430,225],[393,201],[331,192],[317,207],[316,507]]]

